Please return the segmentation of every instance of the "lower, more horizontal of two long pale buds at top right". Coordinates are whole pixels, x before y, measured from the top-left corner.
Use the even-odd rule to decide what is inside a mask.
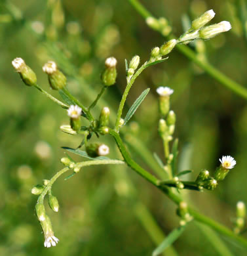
[[[215,37],[219,33],[227,32],[231,30],[231,23],[227,21],[219,22],[218,24],[214,24],[211,26],[207,26],[202,28],[199,31],[199,35],[202,39],[210,39]]]

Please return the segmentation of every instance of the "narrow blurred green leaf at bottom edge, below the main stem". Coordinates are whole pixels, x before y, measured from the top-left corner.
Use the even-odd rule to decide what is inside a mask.
[[[185,226],[180,226],[170,232],[163,242],[153,251],[152,256],[161,254],[167,247],[172,245],[181,236],[183,230],[185,230]]]

